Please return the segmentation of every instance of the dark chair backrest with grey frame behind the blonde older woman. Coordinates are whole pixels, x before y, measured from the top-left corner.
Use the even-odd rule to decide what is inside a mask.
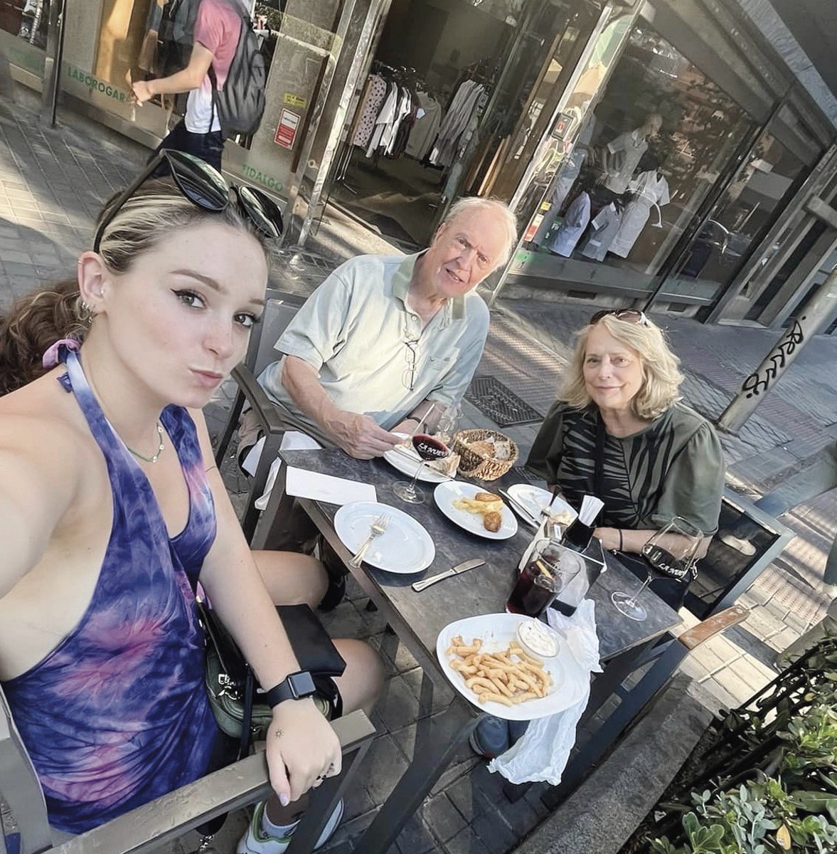
[[[746,533],[745,533],[746,529]],[[725,531],[741,531],[755,549],[745,554],[721,540]],[[793,531],[731,490],[724,491],[718,534],[712,537],[698,576],[689,585],[683,605],[705,620],[723,611],[770,566],[793,537]]]

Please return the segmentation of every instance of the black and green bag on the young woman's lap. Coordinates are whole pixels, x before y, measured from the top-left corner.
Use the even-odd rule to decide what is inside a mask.
[[[249,752],[253,740],[264,740],[273,711],[260,702],[253,669],[247,664],[232,635],[206,603],[196,600],[206,635],[206,690],[218,726],[239,740],[238,757]],[[346,662],[308,605],[278,605],[300,670],[308,670],[317,687],[314,695],[320,711],[329,719],[340,717],[343,703],[334,676],[342,676]]]

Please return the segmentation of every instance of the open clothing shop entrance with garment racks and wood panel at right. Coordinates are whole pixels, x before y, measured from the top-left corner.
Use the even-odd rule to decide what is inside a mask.
[[[497,195],[498,165],[569,4],[393,0],[331,201],[415,249],[456,196]]]

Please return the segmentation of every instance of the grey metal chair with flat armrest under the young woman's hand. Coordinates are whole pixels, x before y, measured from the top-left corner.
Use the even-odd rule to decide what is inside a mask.
[[[294,833],[288,854],[304,854],[313,849],[375,737],[375,727],[362,711],[353,711],[332,725],[343,748],[343,771],[311,792],[311,806]],[[259,752],[53,847],[38,777],[0,691],[0,854],[159,851],[160,845],[216,816],[262,800],[269,793],[267,763],[264,752]]]

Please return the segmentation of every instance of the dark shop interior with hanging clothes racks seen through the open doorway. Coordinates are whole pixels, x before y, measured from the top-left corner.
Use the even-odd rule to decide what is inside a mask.
[[[404,249],[427,245],[440,196],[473,159],[463,153],[501,78],[521,5],[393,0],[329,201]]]

